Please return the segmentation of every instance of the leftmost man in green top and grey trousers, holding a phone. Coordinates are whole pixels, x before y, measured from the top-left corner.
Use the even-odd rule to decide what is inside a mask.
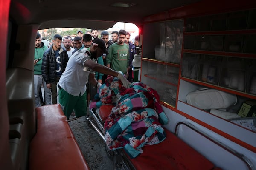
[[[39,33],[36,34],[35,39],[35,57],[34,57],[34,90],[35,90],[35,107],[41,106],[40,100],[40,90],[42,85],[44,85],[44,96],[45,96],[45,104],[50,105],[51,101],[51,91],[47,88],[46,83],[42,77],[42,57],[44,51],[47,50],[47,46],[42,42],[41,35]]]

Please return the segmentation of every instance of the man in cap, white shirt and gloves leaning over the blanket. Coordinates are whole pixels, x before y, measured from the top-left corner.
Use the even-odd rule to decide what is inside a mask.
[[[67,119],[73,109],[75,109],[76,117],[87,115],[86,84],[89,80],[97,88],[102,85],[95,79],[94,71],[118,77],[125,88],[131,85],[121,73],[96,63],[97,58],[103,53],[108,54],[105,42],[96,38],[90,48],[77,51],[70,57],[58,84],[59,103]]]

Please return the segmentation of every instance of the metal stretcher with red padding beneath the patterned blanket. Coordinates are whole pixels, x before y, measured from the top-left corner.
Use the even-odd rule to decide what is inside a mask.
[[[104,122],[111,113],[112,105],[91,108],[87,121],[106,142]],[[143,153],[131,159],[123,149],[108,150],[113,157],[116,170],[220,170],[215,165],[175,136],[164,129],[166,139],[159,144],[143,147]],[[107,147],[106,147],[107,148]]]

